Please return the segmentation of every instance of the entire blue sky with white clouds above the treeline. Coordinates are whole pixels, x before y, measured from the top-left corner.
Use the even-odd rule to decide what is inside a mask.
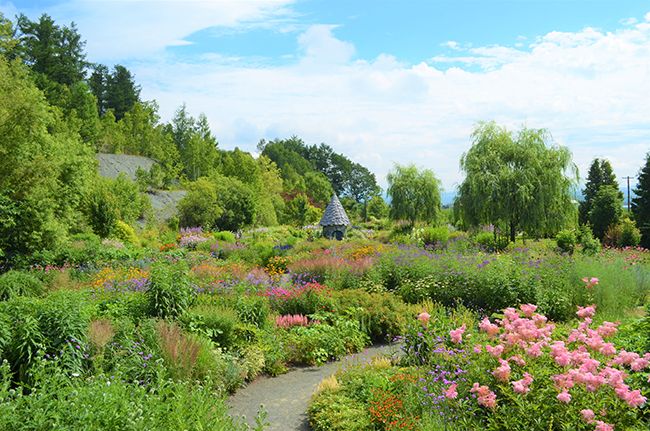
[[[0,0],[75,21],[163,119],[185,102],[222,148],[327,142],[385,184],[393,163],[462,175],[478,121],[548,128],[582,173],[634,175],[650,150],[650,2]]]

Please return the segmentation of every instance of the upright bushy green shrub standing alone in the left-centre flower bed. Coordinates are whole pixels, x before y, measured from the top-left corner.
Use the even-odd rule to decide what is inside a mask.
[[[149,279],[146,295],[152,316],[176,317],[192,305],[195,292],[188,279],[187,266],[183,263],[155,264]]]

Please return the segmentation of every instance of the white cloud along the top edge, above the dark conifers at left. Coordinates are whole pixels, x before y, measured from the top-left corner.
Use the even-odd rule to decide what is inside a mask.
[[[292,0],[67,0],[48,8],[57,22],[75,21],[89,59],[124,61],[160,53],[210,27],[268,23],[289,15]],[[26,11],[40,15],[43,10]]]

